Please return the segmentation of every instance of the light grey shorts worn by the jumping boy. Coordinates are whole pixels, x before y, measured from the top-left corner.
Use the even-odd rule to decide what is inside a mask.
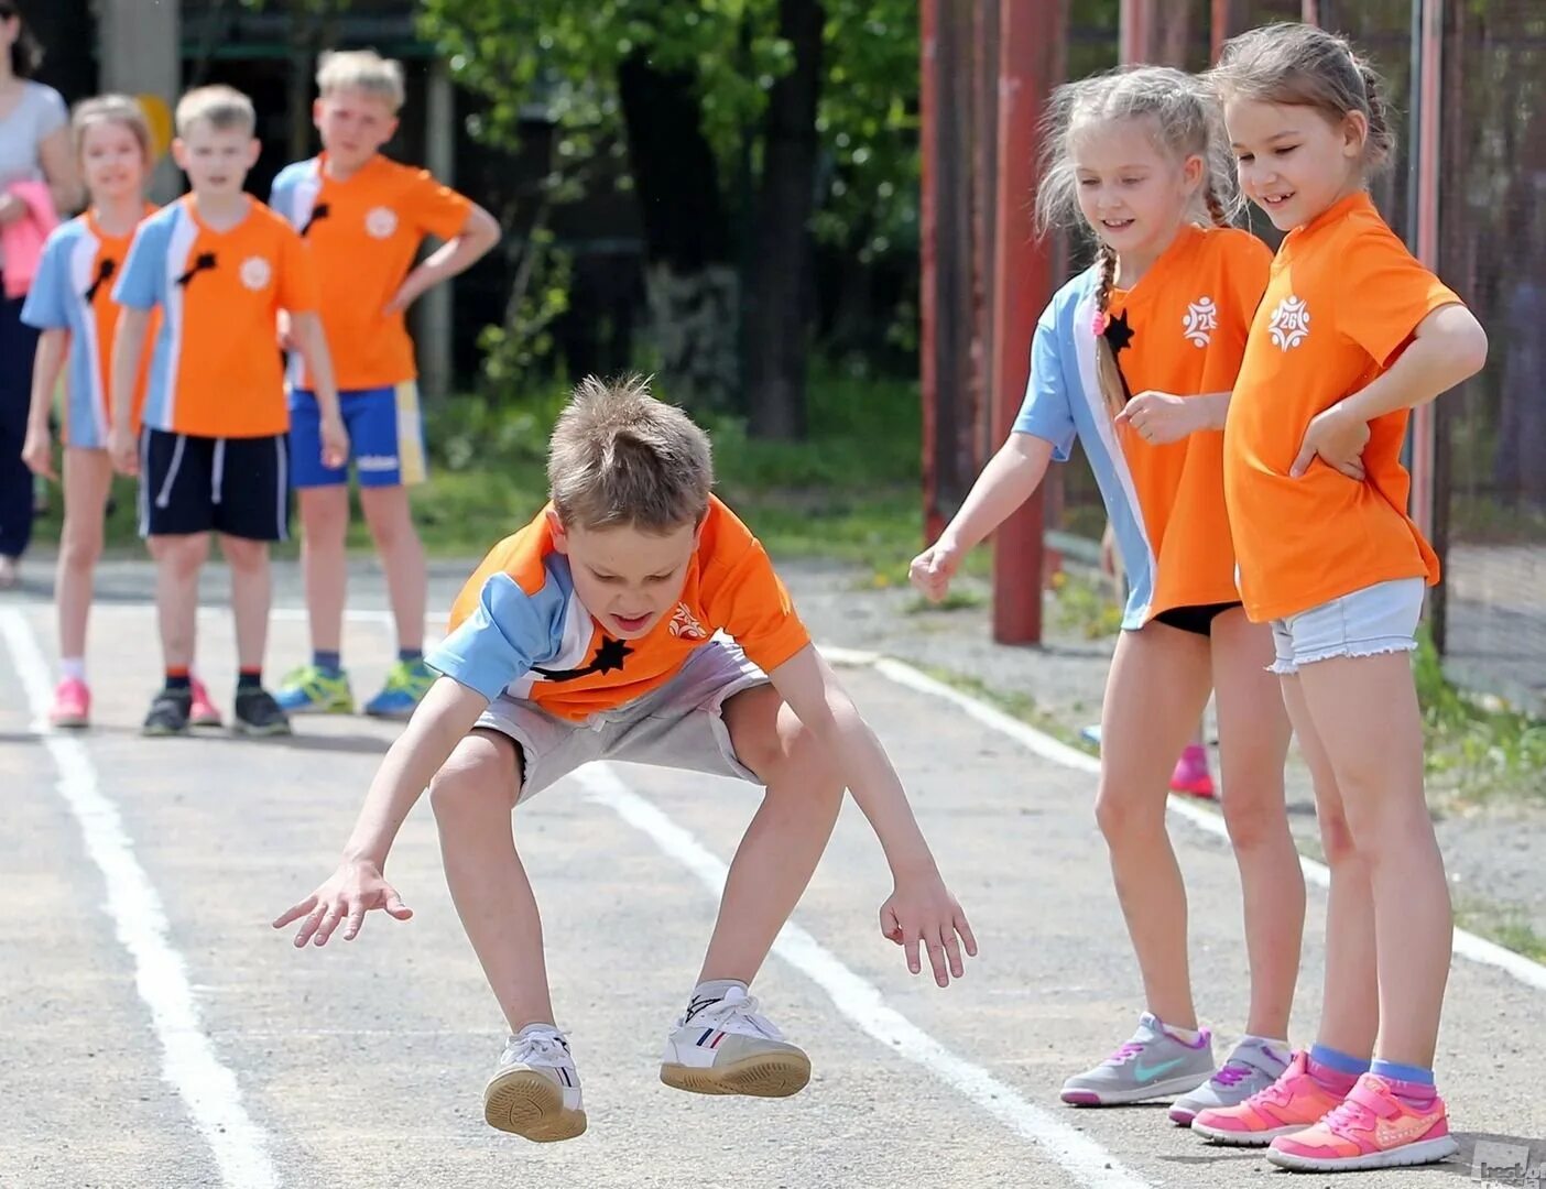
[[[659,690],[584,722],[553,717],[535,702],[501,694],[475,730],[498,731],[519,745],[518,802],[592,759],[626,759],[761,784],[736,759],[722,711],[728,699],[765,683],[767,674],[739,645],[716,639],[696,649]]]

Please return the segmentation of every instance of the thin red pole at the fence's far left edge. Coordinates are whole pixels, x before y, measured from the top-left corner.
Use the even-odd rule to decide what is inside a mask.
[[[918,186],[918,258],[921,261],[921,277],[918,283],[918,362],[920,390],[923,397],[923,532],[925,541],[934,541],[945,529],[945,516],[940,512],[938,473],[935,470],[937,456],[937,408],[940,399],[940,366],[937,337],[940,328],[938,308],[935,305],[937,286],[937,255],[938,240],[938,169],[935,165],[940,152],[940,0],[921,0],[918,5],[920,19],[920,62],[918,62],[918,108],[920,108],[920,186]]]

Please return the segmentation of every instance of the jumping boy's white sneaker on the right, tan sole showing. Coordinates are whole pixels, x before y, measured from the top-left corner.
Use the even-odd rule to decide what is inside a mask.
[[[688,1003],[666,1037],[660,1081],[696,1095],[787,1098],[810,1081],[810,1058],[731,986],[724,999]]]

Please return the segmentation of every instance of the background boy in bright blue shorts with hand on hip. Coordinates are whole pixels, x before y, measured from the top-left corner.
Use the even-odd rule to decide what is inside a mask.
[[[487,254],[499,241],[499,224],[427,170],[382,156],[404,104],[399,63],[371,51],[326,54],[317,90],[314,121],[323,152],[283,170],[271,203],[317,263],[360,507],[397,623],[396,663],[365,711],[400,717],[434,680],[422,651],[428,575],[408,507],[408,487],[424,482],[427,472],[417,368],[404,315],[427,289]],[[414,267],[430,235],[445,244]],[[322,462],[314,376],[298,359],[291,365],[291,421],[312,657],[286,679],[278,700],[289,711],[352,713],[340,657],[349,473]]]

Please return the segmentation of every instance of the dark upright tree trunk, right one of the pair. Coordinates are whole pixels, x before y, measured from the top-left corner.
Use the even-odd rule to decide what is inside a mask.
[[[748,428],[756,438],[805,433],[816,101],[821,96],[821,0],[779,0],[779,36],[795,68],[768,96],[758,195],[754,286],[747,302]]]

